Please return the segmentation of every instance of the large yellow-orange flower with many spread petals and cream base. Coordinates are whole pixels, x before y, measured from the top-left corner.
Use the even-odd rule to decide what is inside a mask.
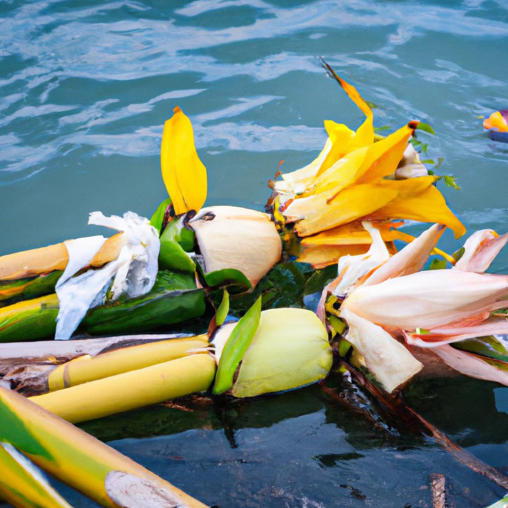
[[[369,235],[358,234],[362,220],[383,225],[380,231],[386,242],[399,237],[391,229],[394,219],[438,223],[451,228],[457,238],[462,236],[464,226],[433,185],[439,177],[400,171],[419,122],[411,121],[374,142],[372,110],[352,85],[335,73],[333,77],[366,119],[356,133],[343,124],[325,121],[329,137],[319,156],[272,183],[279,194],[274,202],[282,204],[285,221],[296,223],[293,231],[302,239],[299,260],[320,268],[345,253],[366,252]],[[406,173],[413,177],[396,179]],[[357,232],[355,237],[352,231]]]

